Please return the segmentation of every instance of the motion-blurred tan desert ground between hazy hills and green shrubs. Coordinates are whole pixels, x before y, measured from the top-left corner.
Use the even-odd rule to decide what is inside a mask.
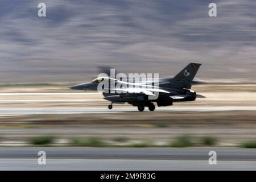
[[[147,109],[139,112],[128,104],[114,104],[108,110],[109,102],[100,93],[71,90],[68,86],[2,85],[0,144],[26,146],[28,138],[40,135],[55,136],[55,145],[65,145],[72,137],[100,137],[106,142],[126,137],[131,142],[162,144],[187,134],[194,138],[215,137],[216,146],[237,146],[256,139],[256,85],[253,84],[195,85],[192,89],[206,98],[156,107],[154,112]],[[81,113],[47,113],[79,109]],[[15,114],[20,110],[31,113]],[[42,113],[33,114],[36,110]]]

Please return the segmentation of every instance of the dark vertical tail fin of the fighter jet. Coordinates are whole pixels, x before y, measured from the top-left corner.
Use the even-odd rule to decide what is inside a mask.
[[[172,86],[176,88],[191,88],[191,82],[199,70],[201,64],[189,63],[182,71],[172,78]]]

